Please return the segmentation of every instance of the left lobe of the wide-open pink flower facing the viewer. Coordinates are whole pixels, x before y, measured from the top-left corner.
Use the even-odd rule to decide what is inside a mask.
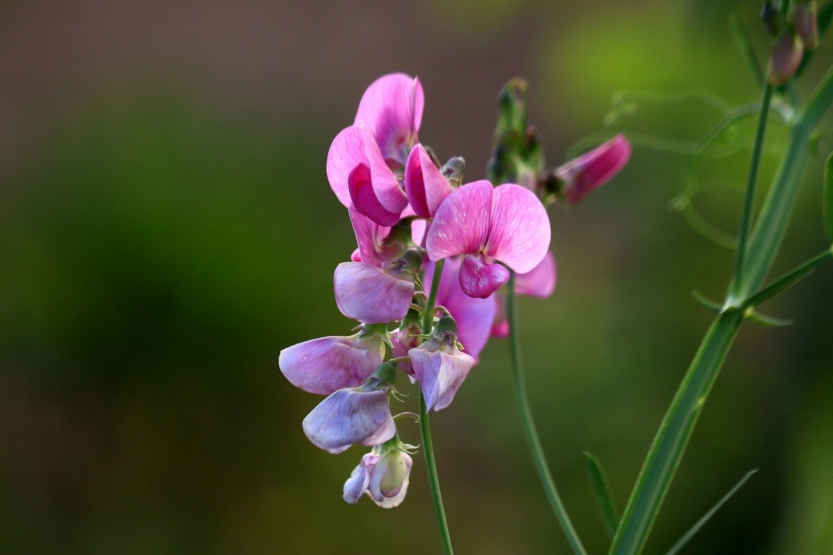
[[[426,235],[426,250],[432,261],[473,254],[486,245],[493,192],[489,181],[473,181],[446,197]]]

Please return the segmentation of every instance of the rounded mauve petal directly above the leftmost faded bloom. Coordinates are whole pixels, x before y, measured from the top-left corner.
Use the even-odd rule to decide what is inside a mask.
[[[412,280],[404,280],[364,262],[342,262],[333,275],[338,310],[367,324],[402,320],[414,295]]]

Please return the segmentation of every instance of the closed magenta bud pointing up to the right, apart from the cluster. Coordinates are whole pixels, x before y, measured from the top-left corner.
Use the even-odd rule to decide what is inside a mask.
[[[597,146],[575,160],[556,168],[556,176],[564,183],[564,194],[571,205],[593,191],[625,167],[631,158],[631,142],[624,135]]]

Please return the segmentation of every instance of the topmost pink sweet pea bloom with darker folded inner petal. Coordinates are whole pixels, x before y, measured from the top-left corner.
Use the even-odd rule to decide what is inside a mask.
[[[367,87],[353,125],[336,136],[327,154],[327,179],[344,206],[381,225],[399,220],[408,197],[392,168],[407,161],[424,104],[419,79],[404,73]]]

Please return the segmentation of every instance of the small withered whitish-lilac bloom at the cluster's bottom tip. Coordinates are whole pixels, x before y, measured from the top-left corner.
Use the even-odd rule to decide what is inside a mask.
[[[382,453],[379,448],[373,448],[344,483],[344,500],[357,503],[367,493],[379,507],[397,507],[408,491],[412,463],[405,451],[390,449]]]

